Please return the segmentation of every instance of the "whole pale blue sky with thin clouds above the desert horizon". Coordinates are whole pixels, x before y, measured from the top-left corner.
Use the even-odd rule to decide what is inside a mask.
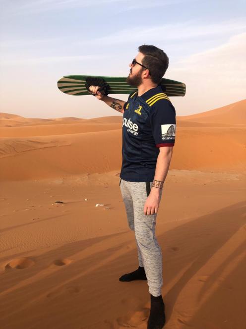
[[[170,59],[177,115],[245,98],[245,1],[0,0],[0,111],[27,117],[122,115],[57,89],[64,75],[127,76],[138,46]],[[127,95],[114,97],[126,100]]]

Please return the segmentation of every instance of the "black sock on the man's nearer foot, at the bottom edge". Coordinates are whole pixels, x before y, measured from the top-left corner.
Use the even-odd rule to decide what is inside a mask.
[[[150,294],[150,316],[148,320],[148,329],[162,329],[165,322],[165,305],[162,295],[155,297]]]

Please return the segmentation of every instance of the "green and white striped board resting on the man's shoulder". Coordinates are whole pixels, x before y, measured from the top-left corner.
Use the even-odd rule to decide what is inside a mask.
[[[87,78],[103,79],[104,83],[108,85],[108,94],[130,94],[137,90],[136,87],[128,85],[125,81],[126,77],[99,77],[86,75],[67,75],[62,77],[57,85],[62,93],[68,95],[91,95],[85,87]],[[185,84],[179,81],[162,79],[161,82],[163,91],[167,96],[184,96]],[[99,86],[95,84],[94,86]]]

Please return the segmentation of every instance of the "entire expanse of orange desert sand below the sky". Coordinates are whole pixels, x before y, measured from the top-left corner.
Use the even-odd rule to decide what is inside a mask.
[[[245,328],[245,106],[177,116],[156,227],[165,329]],[[146,281],[119,281],[138,266],[122,116],[0,113],[0,137],[0,328],[146,329]]]

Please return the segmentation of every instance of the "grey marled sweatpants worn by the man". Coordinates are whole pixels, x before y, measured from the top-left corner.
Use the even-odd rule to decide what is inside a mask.
[[[144,267],[149,293],[160,296],[163,284],[162,251],[155,237],[157,214],[144,215],[143,212],[151,185],[152,182],[128,182],[120,179],[128,226],[135,231],[139,266]]]

